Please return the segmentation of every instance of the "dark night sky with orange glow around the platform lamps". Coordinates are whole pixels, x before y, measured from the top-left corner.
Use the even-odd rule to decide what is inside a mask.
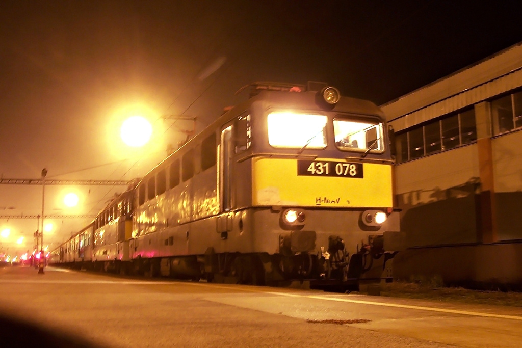
[[[514,4],[515,2],[509,2]],[[0,0],[0,174],[132,179],[203,129],[253,81],[326,81],[380,105],[522,41],[520,5],[428,1]],[[119,136],[131,113],[153,142]],[[48,213],[97,213],[122,187],[45,191]],[[0,186],[0,214],[41,213],[38,186]],[[58,242],[89,219],[56,220]],[[33,220],[0,219],[32,250]],[[0,243],[1,248],[8,242]],[[11,250],[15,246],[10,246]]]

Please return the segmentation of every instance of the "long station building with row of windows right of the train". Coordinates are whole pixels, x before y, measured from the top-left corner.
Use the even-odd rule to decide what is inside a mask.
[[[522,287],[522,43],[381,108],[408,241],[396,276]]]

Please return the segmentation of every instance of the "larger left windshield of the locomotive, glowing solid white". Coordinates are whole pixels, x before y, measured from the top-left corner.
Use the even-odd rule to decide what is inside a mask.
[[[324,149],[325,115],[272,112],[268,114],[268,142],[276,148]]]

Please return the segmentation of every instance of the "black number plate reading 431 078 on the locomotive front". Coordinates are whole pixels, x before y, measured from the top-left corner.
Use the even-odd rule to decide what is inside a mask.
[[[297,175],[362,178],[362,163],[298,160]]]

